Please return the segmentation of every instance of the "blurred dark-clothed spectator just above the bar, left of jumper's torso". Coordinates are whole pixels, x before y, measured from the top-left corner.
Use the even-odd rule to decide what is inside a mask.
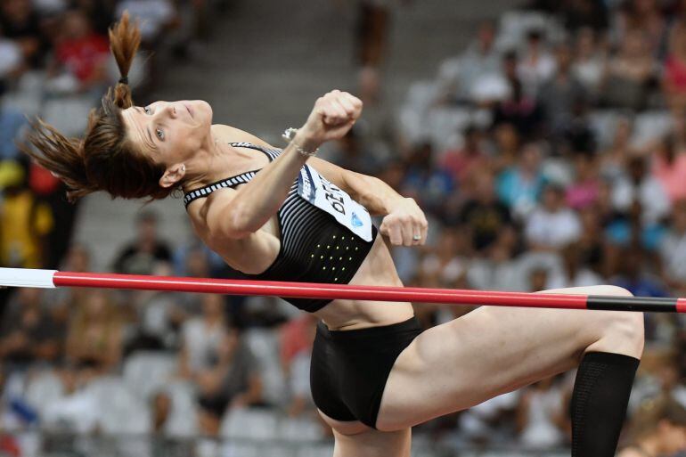
[[[117,273],[151,274],[158,262],[171,262],[171,250],[157,233],[157,216],[144,212],[137,219],[138,237],[129,243],[117,257]]]

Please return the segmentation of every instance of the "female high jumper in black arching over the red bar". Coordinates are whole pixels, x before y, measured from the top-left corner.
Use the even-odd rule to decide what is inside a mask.
[[[325,94],[277,150],[213,125],[207,102],[135,106],[126,77],[139,41],[126,16],[110,30],[122,79],[85,139],[34,124],[25,149],[70,198],[162,199],[181,189],[198,236],[249,278],[402,285],[384,238],[423,244],[421,209],[377,178],[312,157],[346,134],[362,102]],[[370,215],[383,216],[378,230]],[[565,292],[628,295],[610,286]],[[407,456],[412,426],[577,366],[572,455],[615,453],[643,348],[641,314],[486,306],[421,333],[409,303],[289,301],[320,318],[312,394],[336,456]]]

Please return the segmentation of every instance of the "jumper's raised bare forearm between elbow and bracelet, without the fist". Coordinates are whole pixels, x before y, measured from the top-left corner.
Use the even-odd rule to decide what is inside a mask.
[[[241,187],[235,198],[237,208],[234,212],[234,225],[239,231],[257,232],[281,208],[300,168],[308,159],[296,151],[294,143],[305,151],[314,151],[319,146],[309,140],[306,134],[298,133],[274,162]]]

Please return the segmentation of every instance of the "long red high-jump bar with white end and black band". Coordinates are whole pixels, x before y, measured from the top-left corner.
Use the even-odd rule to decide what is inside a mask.
[[[88,287],[102,289],[163,290],[224,295],[283,298],[344,298],[374,301],[441,303],[462,306],[515,306],[529,308],[594,309],[659,313],[686,313],[686,298],[608,297],[595,295],[494,292],[485,290],[426,289],[416,287],[356,286],[314,282],[274,282],[143,276],[112,273],[73,273],[54,270],[0,268],[4,287]]]

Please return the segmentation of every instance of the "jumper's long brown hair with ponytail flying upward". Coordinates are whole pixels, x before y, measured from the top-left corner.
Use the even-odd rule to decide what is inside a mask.
[[[67,184],[69,200],[91,192],[109,192],[113,198],[163,199],[172,192],[159,185],[165,167],[146,156],[127,136],[121,114],[134,105],[126,84],[128,70],[141,44],[141,31],[128,12],[110,29],[110,50],[122,79],[102,97],[102,106],[88,115],[86,135],[67,138],[37,118],[21,150]]]

